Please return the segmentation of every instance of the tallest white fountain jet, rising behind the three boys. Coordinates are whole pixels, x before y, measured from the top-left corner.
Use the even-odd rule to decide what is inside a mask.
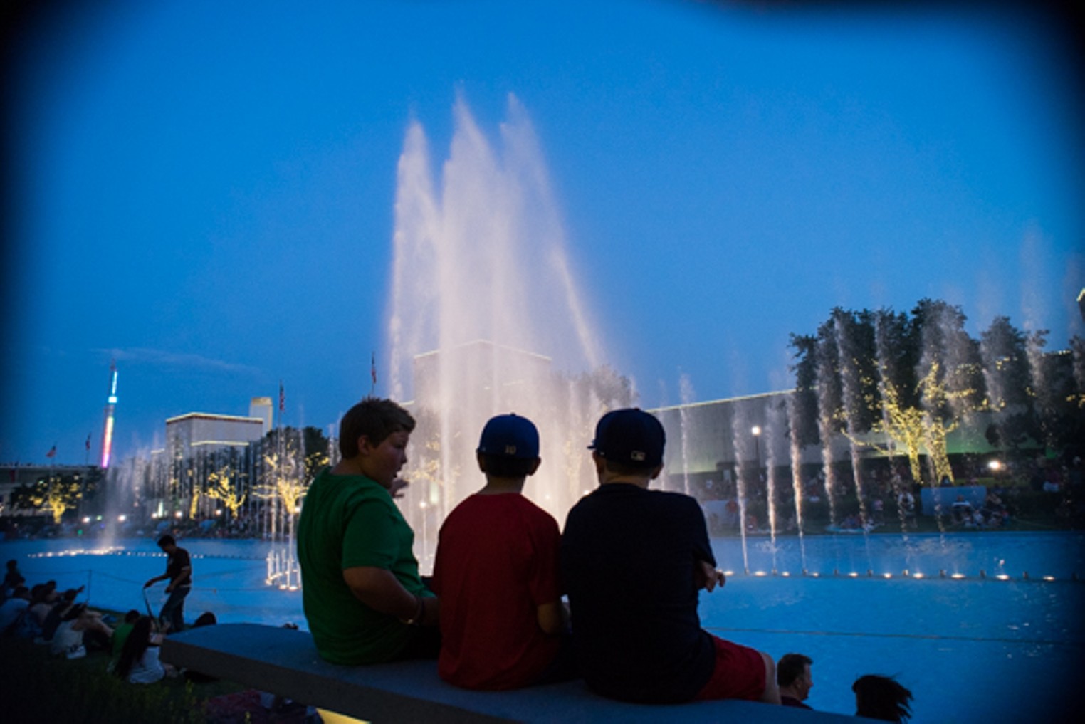
[[[395,205],[391,394],[419,425],[405,515],[429,568],[444,517],[482,486],[478,432],[496,414],[529,417],[539,471],[524,493],[559,521],[595,485],[585,449],[602,411],[629,404],[575,289],[546,164],[510,97],[500,144],[455,105],[436,177],[422,126],[407,130]]]

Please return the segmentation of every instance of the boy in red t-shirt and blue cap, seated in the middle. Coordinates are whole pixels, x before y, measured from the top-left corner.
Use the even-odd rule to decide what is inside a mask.
[[[539,467],[539,435],[516,415],[490,419],[478,443],[486,485],[445,519],[433,569],[441,598],[441,677],[470,689],[552,681],[562,648],[560,533],[521,495]]]

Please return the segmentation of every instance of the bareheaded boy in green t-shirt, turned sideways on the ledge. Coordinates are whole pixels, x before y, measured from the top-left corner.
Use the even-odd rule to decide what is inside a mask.
[[[343,458],[309,485],[297,523],[302,606],[321,658],[346,665],[435,658],[437,599],[395,504],[414,419],[367,397],[340,422]]]

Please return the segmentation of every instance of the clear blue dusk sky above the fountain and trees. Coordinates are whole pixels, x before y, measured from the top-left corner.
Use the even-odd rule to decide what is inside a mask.
[[[583,8],[582,5],[587,5]],[[0,461],[164,420],[333,424],[380,369],[396,163],[462,98],[538,136],[646,406],[790,386],[837,305],[1085,333],[1080,60],[1035,15],[681,0],[59,4],[12,34]],[[311,7],[310,7],[311,5]],[[546,351],[540,351],[545,353]]]

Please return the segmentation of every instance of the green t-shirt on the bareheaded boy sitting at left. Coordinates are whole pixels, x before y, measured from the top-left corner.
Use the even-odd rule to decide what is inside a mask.
[[[430,596],[413,544],[414,533],[380,484],[362,475],[333,475],[331,468],[316,477],[297,523],[297,560],[305,618],[323,659],[380,663],[407,645],[416,630],[358,600],[343,571],[383,568],[410,593]]]

